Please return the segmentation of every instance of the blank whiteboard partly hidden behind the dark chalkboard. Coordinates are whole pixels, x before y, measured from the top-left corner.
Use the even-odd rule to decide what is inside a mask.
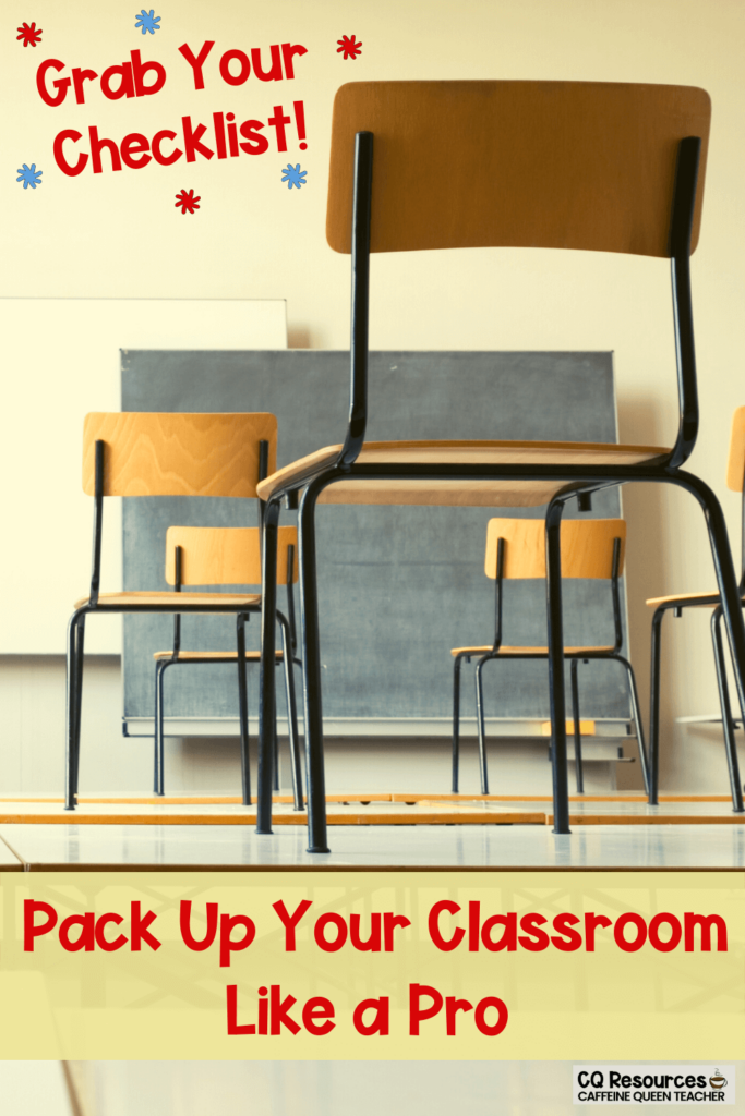
[[[93,501],[80,484],[83,419],[118,411],[120,350],[287,347],[284,299],[0,299],[0,464],[6,589],[0,654],[59,654],[90,581]],[[117,499],[105,501],[105,591],[122,587]],[[86,652],[118,654],[121,617],[86,626]]]

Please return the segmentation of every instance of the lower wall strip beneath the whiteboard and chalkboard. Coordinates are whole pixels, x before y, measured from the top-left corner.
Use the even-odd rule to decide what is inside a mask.
[[[64,786],[65,663],[59,656],[4,656],[0,661],[0,709],[6,718],[0,751],[0,793],[18,791],[59,796]],[[114,655],[90,655],[85,671],[80,737],[80,792],[136,792],[152,786],[153,743],[121,734],[122,682]],[[470,687],[469,687],[470,692]],[[279,723],[280,787],[292,789],[285,725]],[[479,787],[476,740],[465,732],[461,787]],[[489,745],[490,778],[504,793],[551,793],[547,741],[502,740]],[[251,738],[251,786],[256,789],[256,739]],[[389,737],[326,741],[326,787],[345,791],[450,790],[450,741]],[[586,763],[585,785],[602,791],[613,778],[608,763]],[[632,772],[631,772],[632,773]],[[619,766],[619,785],[629,779]],[[612,783],[611,783],[612,785]],[[165,741],[168,793],[236,795],[240,787],[237,739],[192,737]],[[714,783],[716,789],[716,783]]]

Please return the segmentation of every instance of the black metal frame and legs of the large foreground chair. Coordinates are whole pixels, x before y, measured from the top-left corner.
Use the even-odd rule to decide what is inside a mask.
[[[719,501],[698,477],[682,465],[696,444],[698,397],[690,295],[690,242],[696,201],[700,137],[680,141],[671,205],[669,256],[678,366],[679,427],[675,446],[659,463],[641,465],[476,465],[359,463],[367,421],[367,324],[370,288],[370,220],[372,200],[373,135],[359,132],[354,147],[354,202],[352,219],[352,338],[350,419],[342,450],[331,466],[295,478],[274,490],[267,500],[264,535],[264,610],[261,635],[260,747],[257,831],[271,833],[271,725],[277,522],[284,496],[303,491],[298,512],[302,655],[305,679],[305,741],[308,779],[308,852],[328,852],[323,759],[322,662],[318,643],[318,599],[315,554],[315,507],[321,492],[336,481],[360,479],[434,480],[545,480],[564,487],[546,511],[546,604],[548,618],[548,674],[552,721],[554,833],[569,834],[569,772],[564,694],[564,639],[562,632],[562,576],[560,529],[570,499],[632,481],[674,484],[689,492],[704,512],[714,568],[722,597],[727,635],[735,663],[741,708],[745,711],[745,623]]]

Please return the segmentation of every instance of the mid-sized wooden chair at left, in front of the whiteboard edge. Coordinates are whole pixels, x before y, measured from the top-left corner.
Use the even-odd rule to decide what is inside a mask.
[[[101,591],[104,498],[232,497],[257,506],[257,484],[275,466],[277,420],[271,414],[86,415],[83,433],[83,489],[94,498],[90,590],[80,598],[67,629],[67,715],[65,809],[76,805],[85,624],[95,614],[257,613],[257,593]],[[258,502],[261,512],[261,503]],[[275,593],[276,597],[276,593]],[[240,625],[239,625],[240,626]],[[238,648],[240,651],[240,648]],[[274,651],[273,651],[274,657]],[[248,737],[242,731],[243,801],[248,796]],[[271,775],[271,773],[270,773]]]

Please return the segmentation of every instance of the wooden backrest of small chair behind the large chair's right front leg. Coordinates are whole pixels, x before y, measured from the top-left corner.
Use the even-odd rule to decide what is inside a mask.
[[[542,519],[490,519],[486,532],[485,573],[497,576],[497,540],[505,540],[505,578],[546,576],[546,526]],[[565,519],[562,522],[562,577],[610,578],[613,539],[621,540],[623,573],[625,520]]]

